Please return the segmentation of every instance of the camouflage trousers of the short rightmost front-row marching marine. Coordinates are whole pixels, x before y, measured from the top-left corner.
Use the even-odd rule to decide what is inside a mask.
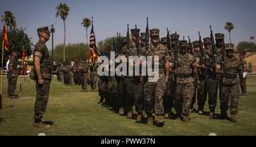
[[[221,89],[221,111],[228,110],[230,98],[230,114],[237,114],[238,100],[240,97],[239,83],[233,85],[222,84]]]

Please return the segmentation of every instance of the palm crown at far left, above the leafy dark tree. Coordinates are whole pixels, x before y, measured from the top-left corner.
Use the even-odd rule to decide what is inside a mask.
[[[2,15],[2,22],[5,22],[5,24],[7,25],[7,30],[12,29],[13,27],[17,27],[17,21],[15,16],[13,15],[13,12],[11,11],[5,11],[4,15]]]

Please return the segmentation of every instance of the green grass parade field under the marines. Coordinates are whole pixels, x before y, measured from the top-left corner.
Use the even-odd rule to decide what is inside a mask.
[[[136,123],[135,119],[119,116],[97,104],[98,93],[81,92],[80,87],[66,87],[54,79],[51,84],[44,120],[51,128],[32,126],[35,83],[26,78],[19,100],[6,98],[6,77],[3,83],[3,110],[0,110],[0,135],[256,135],[256,77],[247,78],[247,96],[240,97],[238,123],[209,119],[207,115],[191,114],[191,123],[165,119],[162,128]],[[216,113],[220,113],[219,101]]]

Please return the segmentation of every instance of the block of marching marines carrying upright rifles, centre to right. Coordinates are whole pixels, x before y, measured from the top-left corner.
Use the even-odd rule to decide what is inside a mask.
[[[148,27],[146,33],[140,34],[137,27],[130,31],[131,35],[128,29],[127,37],[117,37],[116,57],[125,57],[127,64],[133,67],[136,63],[128,63],[129,56],[152,56],[153,63],[154,58],[159,57],[159,80],[150,82],[149,75],[100,76],[98,93],[101,105],[127,118],[136,116],[138,122],[144,119],[144,111],[148,125],[154,124],[156,119],[157,126],[162,127],[164,118],[190,122],[190,113],[205,115],[207,98],[209,117],[216,118],[219,91],[220,118],[237,122],[239,84],[245,83],[243,72],[246,72],[246,63],[234,57],[234,45],[225,44],[224,34],[216,33],[214,38],[211,30],[210,37],[205,37],[203,41],[199,33],[199,40],[191,42],[189,38],[188,42],[184,38],[179,40],[179,34],[169,32],[167,37],[160,39],[159,29],[156,28],[151,29],[150,34]],[[102,55],[108,56],[109,50],[102,52]],[[115,67],[118,64],[115,63]],[[144,63],[139,64],[142,66]],[[196,99],[197,110],[194,108]]]

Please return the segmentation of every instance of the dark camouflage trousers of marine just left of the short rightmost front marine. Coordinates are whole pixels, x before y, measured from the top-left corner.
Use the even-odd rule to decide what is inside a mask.
[[[205,97],[209,94],[208,104],[211,112],[215,111],[217,106],[217,93],[218,93],[218,78],[207,77],[205,89]]]

